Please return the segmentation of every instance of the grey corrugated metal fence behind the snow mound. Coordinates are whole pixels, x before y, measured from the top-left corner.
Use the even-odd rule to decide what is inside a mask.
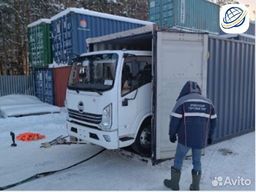
[[[33,75],[0,75],[0,97],[11,94],[35,95]]]

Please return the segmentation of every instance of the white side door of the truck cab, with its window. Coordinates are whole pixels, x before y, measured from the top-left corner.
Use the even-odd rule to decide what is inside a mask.
[[[127,56],[124,58],[119,86],[119,136],[134,135],[138,120],[151,111],[151,56]],[[143,79],[143,81],[141,81]],[[146,96],[145,96],[146,95]],[[126,100],[126,101],[125,101]]]

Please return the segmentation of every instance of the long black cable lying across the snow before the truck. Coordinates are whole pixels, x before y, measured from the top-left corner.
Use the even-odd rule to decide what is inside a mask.
[[[35,179],[38,179],[38,178],[41,178],[41,177],[46,177],[48,175],[52,175],[54,173],[57,173],[57,172],[64,171],[64,170],[67,170],[69,168],[75,167],[76,165],[79,165],[81,163],[84,163],[87,160],[90,160],[90,159],[96,157],[97,155],[99,155],[100,153],[102,153],[105,150],[106,150],[106,148],[102,149],[101,151],[99,151],[98,153],[94,154],[93,156],[90,156],[89,158],[86,158],[85,160],[82,160],[82,161],[80,161],[78,163],[75,163],[74,165],[68,166],[67,168],[63,168],[63,169],[59,169],[59,170],[54,170],[54,171],[43,172],[43,173],[37,173],[37,174],[35,174],[35,175],[31,176],[31,177],[28,177],[27,179],[22,180],[20,182],[16,182],[16,183],[11,184],[11,185],[6,185],[4,187],[0,187],[0,191],[9,189],[9,188],[17,186],[17,185],[21,185],[21,184],[23,184],[25,182],[29,182],[29,181],[32,181],[32,180],[35,180]]]

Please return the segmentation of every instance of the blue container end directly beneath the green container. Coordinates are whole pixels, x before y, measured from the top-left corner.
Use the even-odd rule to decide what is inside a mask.
[[[35,69],[35,96],[54,105],[54,79],[52,68]]]

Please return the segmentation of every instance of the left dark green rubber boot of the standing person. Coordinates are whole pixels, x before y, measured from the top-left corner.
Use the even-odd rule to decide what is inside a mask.
[[[171,179],[165,179],[164,185],[174,191],[179,191],[179,179],[181,171],[171,166]]]

